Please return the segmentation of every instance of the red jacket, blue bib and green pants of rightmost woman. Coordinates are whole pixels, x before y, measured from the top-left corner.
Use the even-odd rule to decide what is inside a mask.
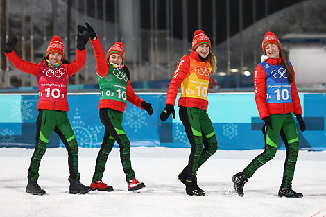
[[[293,76],[294,76],[294,70]],[[299,152],[299,139],[292,112],[302,114],[295,82],[289,84],[281,58],[268,58],[255,69],[256,104],[261,119],[271,116],[273,129],[268,128],[264,153],[257,156],[244,170],[243,177],[253,173],[273,159],[276,154],[281,129],[286,134],[286,161],[282,186],[291,186]]]

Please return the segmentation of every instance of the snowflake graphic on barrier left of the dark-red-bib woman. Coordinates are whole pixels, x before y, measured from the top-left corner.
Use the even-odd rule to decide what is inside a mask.
[[[20,115],[22,116],[22,123],[24,123],[24,121],[27,121],[28,119],[32,119],[32,105],[33,103],[24,100],[13,101],[12,103],[10,103],[11,118],[15,121],[20,121],[19,112],[17,112],[18,110],[20,110]]]

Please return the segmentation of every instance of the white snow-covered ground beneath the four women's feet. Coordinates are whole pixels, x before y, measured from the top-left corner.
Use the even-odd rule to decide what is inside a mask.
[[[65,148],[46,150],[39,184],[44,196],[25,192],[26,173],[33,150],[0,148],[0,216],[326,216],[326,152],[300,151],[293,189],[304,198],[279,198],[285,152],[261,167],[245,185],[241,198],[233,191],[231,176],[262,150],[218,152],[198,171],[206,196],[187,196],[178,173],[187,164],[189,148],[132,148],[132,166],[146,188],[128,192],[113,148],[103,181],[112,192],[70,195]],[[97,148],[80,148],[81,182],[90,184]]]

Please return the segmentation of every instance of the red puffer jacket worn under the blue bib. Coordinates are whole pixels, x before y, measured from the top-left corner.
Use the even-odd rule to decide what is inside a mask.
[[[268,64],[282,64],[282,59],[268,58],[266,60]],[[257,109],[260,115],[260,119],[270,116],[271,114],[286,114],[294,112],[294,114],[302,114],[300,98],[298,95],[297,87],[295,86],[294,70],[293,71],[293,83],[291,83],[291,97],[292,103],[266,103],[266,74],[260,64],[257,65],[254,75],[255,86],[255,99]]]

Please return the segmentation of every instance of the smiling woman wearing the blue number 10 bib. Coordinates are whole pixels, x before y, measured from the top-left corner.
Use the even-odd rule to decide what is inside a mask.
[[[286,60],[282,46],[274,33],[267,32],[262,42],[264,55],[257,64],[254,75],[256,104],[260,118],[264,120],[265,150],[255,157],[242,171],[232,176],[234,190],[243,196],[243,186],[257,169],[273,159],[278,147],[278,141],[284,133],[287,142],[286,160],[283,180],[278,196],[302,198],[302,193],[292,189],[295,164],[299,152],[298,132],[295,127],[292,112],[294,112],[303,132],[306,125],[302,119],[302,109],[297,88],[295,86],[294,70]]]

